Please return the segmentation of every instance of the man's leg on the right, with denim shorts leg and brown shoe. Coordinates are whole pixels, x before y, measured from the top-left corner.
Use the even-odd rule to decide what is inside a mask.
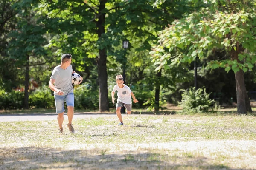
[[[72,125],[72,120],[73,120],[73,116],[74,116],[74,94],[70,93],[66,95],[66,103],[67,103],[67,117],[68,117],[68,124],[67,127],[69,128],[71,133],[75,132],[75,129]]]

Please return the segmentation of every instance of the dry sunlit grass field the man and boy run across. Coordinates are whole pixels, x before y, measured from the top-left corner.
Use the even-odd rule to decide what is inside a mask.
[[[66,115],[65,115],[66,116]],[[256,169],[256,117],[123,115],[0,123],[0,170]],[[67,116],[64,124],[67,123]]]

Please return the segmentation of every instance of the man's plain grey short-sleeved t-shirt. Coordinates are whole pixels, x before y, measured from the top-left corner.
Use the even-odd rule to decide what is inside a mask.
[[[63,69],[58,65],[52,71],[51,79],[55,79],[55,88],[63,91],[63,95],[73,93],[73,86],[71,83],[71,75],[73,73],[72,65],[69,65],[66,69]],[[59,95],[54,92],[55,95]]]

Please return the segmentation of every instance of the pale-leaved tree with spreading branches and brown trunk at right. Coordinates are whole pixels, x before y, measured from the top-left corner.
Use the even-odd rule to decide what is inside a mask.
[[[208,3],[207,3],[208,2]],[[225,50],[221,60],[209,62],[209,68],[234,71],[236,79],[237,112],[251,112],[244,84],[244,72],[256,61],[254,40],[256,32],[255,1],[213,0],[205,7],[175,20],[160,32],[160,45],[151,52],[161,61],[160,68],[203,58],[208,51]],[[170,66],[170,65],[169,65]]]

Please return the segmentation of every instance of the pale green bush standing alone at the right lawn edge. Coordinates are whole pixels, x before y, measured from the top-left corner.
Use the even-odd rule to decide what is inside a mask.
[[[183,91],[183,94],[179,106],[183,108],[183,113],[209,112],[209,109],[212,108],[214,100],[209,99],[210,94],[206,93],[206,89],[198,88],[195,90],[194,87],[189,90],[181,89],[180,91]]]

